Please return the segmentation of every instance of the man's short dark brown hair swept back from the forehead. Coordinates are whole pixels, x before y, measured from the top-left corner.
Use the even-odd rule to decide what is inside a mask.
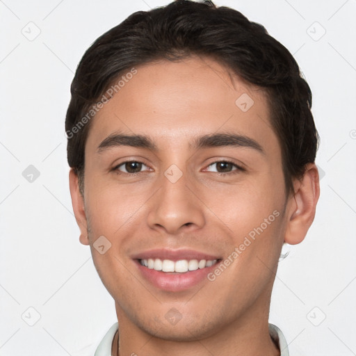
[[[72,81],[65,130],[68,163],[82,188],[88,112],[93,104],[132,67],[192,54],[214,58],[264,88],[270,99],[270,122],[282,149],[287,193],[293,178],[302,177],[305,165],[314,163],[318,132],[310,111],[312,92],[288,49],[237,10],[218,8],[211,1],[178,0],[133,13],[100,36],[81,59]]]

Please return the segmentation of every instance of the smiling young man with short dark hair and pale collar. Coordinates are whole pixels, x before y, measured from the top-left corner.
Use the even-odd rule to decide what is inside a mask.
[[[95,355],[289,355],[268,312],[282,245],[314,220],[311,106],[289,51],[210,1],[92,44],[66,131],[80,241],[118,316]]]

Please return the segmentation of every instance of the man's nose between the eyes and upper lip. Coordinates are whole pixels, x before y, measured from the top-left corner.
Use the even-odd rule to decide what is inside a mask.
[[[186,173],[175,182],[163,176],[161,188],[150,199],[147,223],[152,229],[163,230],[166,234],[192,232],[205,224],[204,204],[193,193],[192,183]]]

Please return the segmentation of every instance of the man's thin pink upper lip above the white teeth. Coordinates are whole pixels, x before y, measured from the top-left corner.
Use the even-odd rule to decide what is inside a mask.
[[[187,250],[187,249],[181,249],[181,250],[169,250],[167,248],[157,248],[154,250],[147,250],[143,252],[139,252],[138,254],[134,254],[132,259],[170,259],[171,261],[179,261],[181,259],[205,259],[207,261],[213,260],[213,259],[220,259],[220,257],[213,255],[213,254],[208,254],[205,252],[199,252],[195,250]]]

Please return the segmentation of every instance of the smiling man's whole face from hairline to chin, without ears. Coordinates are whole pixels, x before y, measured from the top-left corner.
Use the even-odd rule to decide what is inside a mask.
[[[268,99],[207,58],[136,70],[91,123],[81,242],[122,324],[207,337],[268,309],[289,207]]]

